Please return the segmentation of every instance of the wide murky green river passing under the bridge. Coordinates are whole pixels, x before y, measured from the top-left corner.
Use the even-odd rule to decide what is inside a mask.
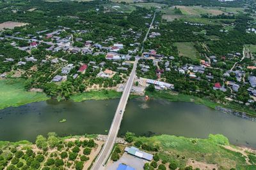
[[[0,140],[35,141],[38,134],[56,132],[59,136],[108,134],[118,99],[106,101],[56,100],[30,103],[0,110]],[[60,123],[66,119],[67,122]],[[144,101],[142,97],[128,101],[119,135],[173,134],[207,138],[212,134],[227,136],[230,143],[256,148],[256,122],[228,115],[194,103]]]

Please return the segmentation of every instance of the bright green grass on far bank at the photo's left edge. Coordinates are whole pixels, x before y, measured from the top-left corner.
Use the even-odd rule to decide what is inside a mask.
[[[17,78],[0,80],[0,109],[49,99],[42,92],[27,92],[23,82],[24,80]]]

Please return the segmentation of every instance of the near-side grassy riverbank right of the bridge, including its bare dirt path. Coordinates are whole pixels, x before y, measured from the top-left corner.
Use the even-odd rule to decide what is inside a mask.
[[[196,165],[207,164],[207,167],[217,166],[218,169],[256,168],[249,165],[256,158],[255,151],[246,148],[246,151],[243,151],[238,146],[232,146],[228,139],[220,134],[210,134],[208,139],[161,135],[150,138],[134,137],[134,141],[141,141],[144,145],[141,145],[141,148],[158,148],[157,153],[162,161],[175,162],[178,167],[195,168]]]

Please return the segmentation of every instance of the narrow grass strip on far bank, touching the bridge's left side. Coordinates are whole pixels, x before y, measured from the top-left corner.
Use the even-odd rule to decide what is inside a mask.
[[[102,90],[102,91],[90,91],[83,92],[81,94],[75,94],[70,97],[75,102],[81,102],[86,100],[106,100],[120,98],[122,93],[116,92],[115,90]]]

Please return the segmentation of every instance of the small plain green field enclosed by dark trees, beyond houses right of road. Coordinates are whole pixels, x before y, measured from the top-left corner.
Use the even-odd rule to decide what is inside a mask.
[[[189,57],[193,60],[198,59],[198,52],[196,51],[194,44],[191,42],[175,43],[178,48],[179,55]]]

